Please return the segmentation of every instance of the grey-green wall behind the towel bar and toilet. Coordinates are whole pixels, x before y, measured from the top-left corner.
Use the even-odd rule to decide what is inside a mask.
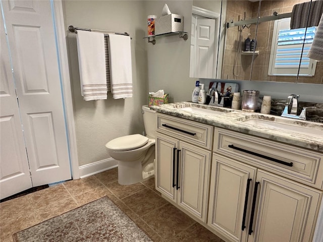
[[[79,165],[110,156],[105,144],[117,137],[142,134],[141,106],[147,104],[147,52],[145,1],[63,1],[72,84]],[[76,34],[68,26],[128,32],[132,37],[133,97],[84,101],[81,96]]]

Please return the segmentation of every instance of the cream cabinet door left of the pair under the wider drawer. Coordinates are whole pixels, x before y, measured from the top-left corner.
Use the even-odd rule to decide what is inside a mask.
[[[207,224],[230,241],[247,240],[256,170],[253,166],[213,154]]]

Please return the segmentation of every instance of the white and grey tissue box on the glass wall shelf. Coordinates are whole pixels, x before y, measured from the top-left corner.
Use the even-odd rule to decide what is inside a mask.
[[[155,34],[165,34],[184,30],[184,17],[178,14],[168,14],[155,20]]]

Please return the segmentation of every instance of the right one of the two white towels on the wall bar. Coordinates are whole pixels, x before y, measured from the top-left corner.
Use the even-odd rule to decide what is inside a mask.
[[[130,36],[109,34],[111,92],[114,99],[132,97]]]

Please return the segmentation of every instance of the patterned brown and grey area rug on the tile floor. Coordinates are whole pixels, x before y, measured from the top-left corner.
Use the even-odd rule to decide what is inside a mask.
[[[21,230],[13,236],[16,242],[152,241],[107,197]]]

